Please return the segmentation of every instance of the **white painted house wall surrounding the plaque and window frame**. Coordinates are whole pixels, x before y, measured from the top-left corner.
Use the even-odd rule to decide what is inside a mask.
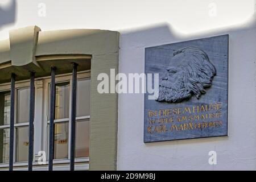
[[[1,9],[8,9],[10,2],[1,0]],[[44,8],[40,3],[46,5],[46,16],[40,14]],[[228,137],[144,144],[143,94],[119,94],[117,169],[255,170],[255,5],[254,0],[225,3],[18,0],[15,21],[0,24],[0,40],[9,38],[9,30],[34,24],[43,31],[73,28],[119,31],[119,72],[128,74],[144,72],[146,47],[229,34]],[[216,11],[212,6],[216,6]],[[208,153],[212,150],[217,152],[216,165],[208,163]]]

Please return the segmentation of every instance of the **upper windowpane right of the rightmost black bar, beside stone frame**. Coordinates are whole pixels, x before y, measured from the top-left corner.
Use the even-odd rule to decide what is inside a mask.
[[[77,107],[76,116],[90,115],[90,80],[77,81]]]

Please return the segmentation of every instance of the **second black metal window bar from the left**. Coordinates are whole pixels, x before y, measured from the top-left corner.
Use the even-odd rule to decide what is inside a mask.
[[[35,73],[30,73],[30,129],[28,146],[28,171],[33,168],[34,156],[34,117],[35,117]]]

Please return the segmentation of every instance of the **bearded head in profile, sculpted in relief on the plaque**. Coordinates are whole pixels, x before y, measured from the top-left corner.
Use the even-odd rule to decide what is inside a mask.
[[[196,47],[174,52],[164,76],[159,81],[158,102],[181,102],[192,96],[197,99],[212,85],[216,69],[207,53]]]

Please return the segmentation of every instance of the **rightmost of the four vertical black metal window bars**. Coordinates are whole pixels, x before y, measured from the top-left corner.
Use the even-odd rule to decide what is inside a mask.
[[[73,63],[72,76],[72,107],[71,107],[71,149],[70,171],[75,170],[75,142],[76,142],[76,89],[77,89],[77,64]]]

